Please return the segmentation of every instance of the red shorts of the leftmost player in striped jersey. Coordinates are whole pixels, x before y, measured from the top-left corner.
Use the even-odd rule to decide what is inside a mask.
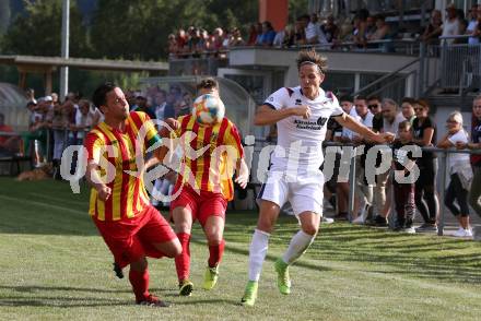
[[[133,218],[98,221],[94,217],[93,221],[120,268],[142,257],[162,258],[164,253],[154,243],[177,237],[168,222],[152,205]]]

